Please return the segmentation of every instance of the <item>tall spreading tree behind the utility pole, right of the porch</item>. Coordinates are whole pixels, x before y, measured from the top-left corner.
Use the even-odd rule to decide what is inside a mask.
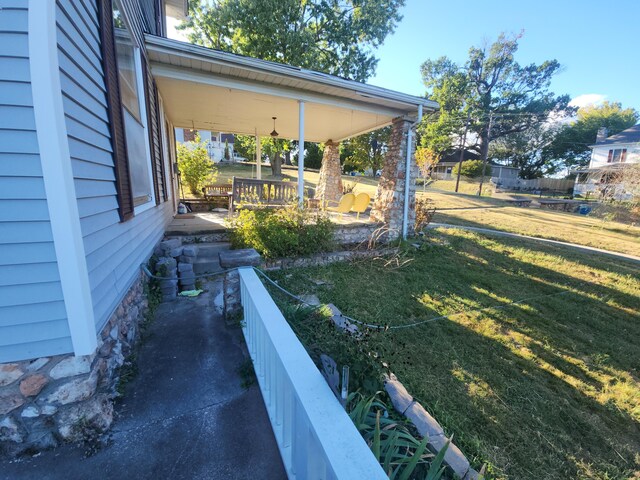
[[[460,146],[468,120],[464,148],[486,161],[492,141],[531,131],[571,112],[569,97],[550,91],[560,69],[556,60],[520,65],[515,60],[520,35],[501,34],[480,47],[471,47],[459,65],[447,57],[427,60],[421,72],[428,96],[441,110],[425,117],[422,145],[440,155]]]

